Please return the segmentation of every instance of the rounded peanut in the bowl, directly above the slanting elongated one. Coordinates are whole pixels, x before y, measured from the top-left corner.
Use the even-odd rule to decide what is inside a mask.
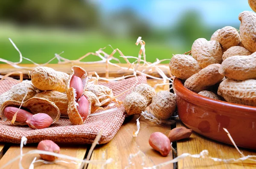
[[[211,40],[205,42],[198,50],[197,61],[201,68],[206,68],[208,65],[220,63],[222,59],[222,49],[218,41]]]

